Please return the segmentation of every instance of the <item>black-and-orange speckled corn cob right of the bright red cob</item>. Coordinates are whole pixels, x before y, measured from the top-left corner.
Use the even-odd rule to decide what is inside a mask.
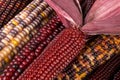
[[[82,80],[119,50],[120,36],[98,37],[86,45],[79,56],[58,76],[58,80]]]

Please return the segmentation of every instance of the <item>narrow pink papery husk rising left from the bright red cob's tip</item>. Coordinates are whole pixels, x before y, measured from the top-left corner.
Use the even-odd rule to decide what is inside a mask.
[[[45,0],[60,16],[66,27],[82,26],[82,10],[79,0]]]

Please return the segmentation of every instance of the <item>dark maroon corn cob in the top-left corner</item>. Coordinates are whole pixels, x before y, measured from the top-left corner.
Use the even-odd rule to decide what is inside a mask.
[[[20,12],[28,2],[32,0],[4,0],[0,7],[0,28],[3,27],[11,18],[13,18],[18,12]],[[24,3],[24,4],[21,4]],[[27,4],[26,4],[27,3]],[[22,7],[22,8],[20,8]],[[16,13],[17,11],[17,13]]]

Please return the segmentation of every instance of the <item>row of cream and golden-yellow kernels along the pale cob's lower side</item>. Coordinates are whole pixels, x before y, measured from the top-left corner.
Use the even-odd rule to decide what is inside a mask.
[[[32,27],[37,27],[37,25],[39,25],[40,23],[40,20],[38,19],[39,17],[37,17],[37,21],[35,21],[34,25],[35,26],[32,26]],[[16,51],[16,48],[21,44],[21,41],[24,37],[28,36],[30,34],[30,32],[33,30],[34,28],[31,28],[31,27],[27,27],[27,28],[24,28],[22,32],[18,33],[18,35],[16,35],[16,37],[14,37],[10,43],[8,43],[8,45],[6,45],[0,52],[0,56],[1,56],[1,64],[4,65],[4,63],[8,63],[9,62],[9,57],[8,56],[11,56],[11,53],[12,51],[14,52],[14,54],[17,54],[17,51]],[[25,34],[24,34],[25,33]],[[21,36],[22,35],[22,36]],[[28,36],[29,38],[29,36]],[[28,39],[30,40],[30,39]],[[27,40],[27,41],[28,41]],[[24,44],[23,44],[24,45]],[[22,46],[23,46],[22,45]],[[22,47],[20,47],[22,48]],[[13,54],[13,53],[12,53]],[[3,63],[4,62],[4,63]],[[2,66],[1,66],[2,67]]]

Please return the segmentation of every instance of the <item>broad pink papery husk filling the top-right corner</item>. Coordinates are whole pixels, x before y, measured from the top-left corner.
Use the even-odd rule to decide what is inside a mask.
[[[82,31],[89,35],[120,34],[120,0],[96,0]]]

